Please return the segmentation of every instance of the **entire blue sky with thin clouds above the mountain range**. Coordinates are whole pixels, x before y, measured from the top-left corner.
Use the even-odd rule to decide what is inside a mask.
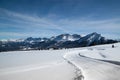
[[[98,32],[120,38],[120,0],[0,0],[0,39]]]

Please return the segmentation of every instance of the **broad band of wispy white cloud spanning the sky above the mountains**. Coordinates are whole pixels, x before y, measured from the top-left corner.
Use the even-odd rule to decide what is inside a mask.
[[[58,20],[51,19],[48,14],[46,17],[37,15],[27,15],[0,8],[0,36],[51,36],[59,33],[90,33],[99,32],[102,34],[119,34],[120,19],[92,19],[93,14],[81,17],[80,19],[62,18]],[[4,20],[8,21],[5,22]],[[16,28],[19,32],[2,31],[2,29]],[[118,35],[117,35],[118,36]]]

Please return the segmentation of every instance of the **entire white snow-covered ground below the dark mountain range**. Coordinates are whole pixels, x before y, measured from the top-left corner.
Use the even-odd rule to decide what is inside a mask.
[[[114,45],[1,52],[0,80],[120,80],[120,43]]]

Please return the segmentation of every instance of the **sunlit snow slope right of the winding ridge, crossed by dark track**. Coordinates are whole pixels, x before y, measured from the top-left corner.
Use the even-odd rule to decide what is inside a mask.
[[[111,46],[83,48],[66,53],[64,58],[82,70],[84,80],[120,80],[120,66],[114,64],[120,61],[120,43]]]

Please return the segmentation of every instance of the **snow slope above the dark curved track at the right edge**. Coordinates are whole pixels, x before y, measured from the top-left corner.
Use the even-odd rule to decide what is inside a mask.
[[[120,43],[114,45],[115,48],[112,48],[112,44],[90,47],[80,51],[80,54],[95,59],[120,61]]]

